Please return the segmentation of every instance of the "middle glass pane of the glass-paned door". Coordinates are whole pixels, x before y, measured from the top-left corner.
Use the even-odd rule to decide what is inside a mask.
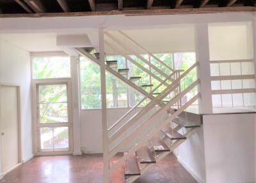
[[[41,123],[64,123],[68,122],[67,103],[45,103],[40,106]]]

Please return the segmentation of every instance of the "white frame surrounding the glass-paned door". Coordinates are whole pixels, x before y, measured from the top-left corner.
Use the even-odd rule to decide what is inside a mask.
[[[33,152],[35,155],[67,155],[72,154],[74,149],[74,138],[73,138],[73,122],[72,122],[72,83],[70,78],[60,79],[33,79],[32,82],[32,111],[33,111]],[[40,132],[38,131],[38,86],[40,84],[67,84],[67,106],[68,106],[68,124],[64,126],[68,127],[68,151],[56,151],[56,152],[41,152],[40,151]]]

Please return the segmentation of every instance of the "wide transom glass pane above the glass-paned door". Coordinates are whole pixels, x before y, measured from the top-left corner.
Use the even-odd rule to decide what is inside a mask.
[[[70,77],[70,58],[36,57],[33,58],[33,78]]]

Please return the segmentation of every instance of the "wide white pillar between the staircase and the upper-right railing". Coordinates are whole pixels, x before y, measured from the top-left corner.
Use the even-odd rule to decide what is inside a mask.
[[[212,113],[211,95],[211,68],[209,54],[208,24],[195,25],[196,38],[196,61],[199,62],[197,74],[200,79],[198,91],[201,93],[199,99],[199,113]]]

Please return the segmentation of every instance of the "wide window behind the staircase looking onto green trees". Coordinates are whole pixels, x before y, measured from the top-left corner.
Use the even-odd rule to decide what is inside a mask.
[[[173,57],[174,55],[174,57]],[[163,61],[170,68],[167,68],[166,65],[161,63],[161,61],[156,60],[153,56],[149,57],[148,54],[141,54],[145,60],[150,61],[157,68],[162,70],[166,75],[171,74],[170,68],[174,67],[173,58],[176,58],[176,64],[179,69],[188,69],[193,63],[195,63],[195,52],[181,52],[175,53],[157,53],[154,54],[156,58]],[[161,79],[165,79],[159,72],[154,70],[152,67],[145,64],[138,57],[131,55],[131,59],[136,61],[141,65],[141,67],[145,67],[148,70],[151,70],[153,74],[160,77]],[[147,92],[153,90],[157,87],[160,82],[150,76],[147,72],[144,72],[140,67],[134,65],[131,59],[125,59],[120,55],[107,55],[106,60],[117,60],[118,68],[129,68],[128,78],[132,76],[140,76],[140,81],[136,81],[138,85],[142,84],[153,84],[152,88],[145,88]],[[101,90],[100,90],[100,67],[99,65],[93,63],[88,58],[80,58],[80,69],[81,69],[81,107],[82,109],[97,109],[101,108]],[[192,84],[196,81],[196,69],[190,72],[191,78],[186,77],[184,82],[182,83],[182,87],[186,88],[189,84]],[[126,76],[125,76],[126,77]],[[161,92],[166,88],[166,86],[161,86],[156,90],[157,92]],[[196,91],[195,91],[196,92]],[[133,88],[126,86],[122,81],[116,79],[115,76],[112,76],[108,72],[106,72],[106,100],[107,107],[133,107],[141,99],[143,99],[143,95],[141,93],[136,92]],[[168,98],[169,99],[169,98]],[[167,100],[167,99],[166,99]],[[145,100],[140,106],[145,106],[150,100]]]

